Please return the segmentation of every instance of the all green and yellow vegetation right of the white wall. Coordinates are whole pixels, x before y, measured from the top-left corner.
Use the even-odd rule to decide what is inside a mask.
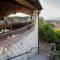
[[[39,23],[39,38],[56,44],[56,51],[58,51],[58,59],[60,60],[60,29],[53,29],[52,25],[40,18]]]

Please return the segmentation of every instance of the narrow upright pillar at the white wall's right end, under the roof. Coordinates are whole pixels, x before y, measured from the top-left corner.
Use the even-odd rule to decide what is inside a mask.
[[[38,11],[35,10],[32,15],[32,20],[34,21],[34,31],[35,31],[35,36],[36,36],[36,48],[38,52]]]

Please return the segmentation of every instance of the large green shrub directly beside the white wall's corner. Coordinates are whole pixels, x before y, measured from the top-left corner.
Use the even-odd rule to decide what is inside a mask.
[[[48,42],[55,42],[58,40],[56,33],[52,29],[50,23],[47,23],[43,19],[40,19],[38,25],[40,38]]]

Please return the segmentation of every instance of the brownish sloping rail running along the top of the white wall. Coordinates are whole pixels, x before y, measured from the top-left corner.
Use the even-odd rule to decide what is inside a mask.
[[[29,28],[31,28],[33,25],[34,24],[31,23],[31,24],[29,24],[29,25],[27,25],[25,27],[22,27],[20,29],[15,30],[15,31],[9,31],[9,32],[3,33],[3,34],[0,35],[0,38],[24,32],[25,30],[28,30]]]

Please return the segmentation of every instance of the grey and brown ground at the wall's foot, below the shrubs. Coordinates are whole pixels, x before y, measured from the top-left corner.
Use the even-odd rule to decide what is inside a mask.
[[[50,45],[40,40],[40,54],[33,56],[31,60],[50,60],[49,59],[49,48]]]

